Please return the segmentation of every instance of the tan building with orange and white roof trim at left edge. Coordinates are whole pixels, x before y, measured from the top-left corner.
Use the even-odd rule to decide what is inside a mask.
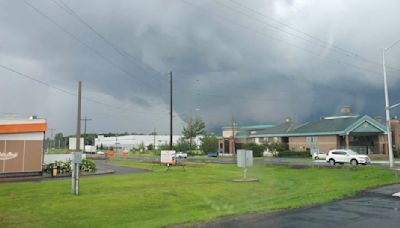
[[[0,177],[40,175],[46,131],[44,119],[0,120]]]

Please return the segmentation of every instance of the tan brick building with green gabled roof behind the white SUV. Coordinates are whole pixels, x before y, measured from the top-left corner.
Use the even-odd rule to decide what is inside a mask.
[[[225,128],[227,132],[223,136],[228,138],[221,139],[220,151],[233,153],[246,142],[279,142],[292,151],[327,152],[330,149],[349,148],[362,154],[387,154],[385,125],[367,115],[354,115],[349,107],[342,108],[336,116],[323,117],[315,122],[296,124],[288,118],[277,126],[256,126],[260,127],[237,127],[235,131],[230,128],[230,132],[235,132],[235,137],[232,137],[232,133],[228,134],[229,128]],[[400,120],[393,119],[391,127],[393,145],[400,148]]]

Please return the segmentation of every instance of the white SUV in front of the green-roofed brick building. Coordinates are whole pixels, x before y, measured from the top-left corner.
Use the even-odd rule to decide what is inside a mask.
[[[352,150],[330,150],[328,156],[326,157],[326,162],[331,165],[336,163],[344,164],[350,163],[351,165],[363,164],[366,165],[370,163],[369,157],[364,154],[358,154]]]

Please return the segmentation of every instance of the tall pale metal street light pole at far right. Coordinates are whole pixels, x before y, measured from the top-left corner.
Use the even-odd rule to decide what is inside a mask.
[[[383,81],[385,89],[385,110],[386,110],[386,131],[388,137],[388,150],[389,150],[389,166],[393,168],[393,147],[392,147],[392,130],[390,126],[390,105],[389,105],[389,92],[387,88],[387,77],[386,77],[386,66],[385,66],[385,52],[388,49],[382,51],[382,65],[383,65]]]

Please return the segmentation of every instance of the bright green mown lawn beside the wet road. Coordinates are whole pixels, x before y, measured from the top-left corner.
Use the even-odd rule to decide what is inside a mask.
[[[339,199],[397,182],[380,167],[289,169],[257,165],[234,183],[234,165],[188,163],[186,168],[133,161],[116,164],[153,172],[70,180],[0,184],[0,227],[160,227],[219,216],[295,208]]]

